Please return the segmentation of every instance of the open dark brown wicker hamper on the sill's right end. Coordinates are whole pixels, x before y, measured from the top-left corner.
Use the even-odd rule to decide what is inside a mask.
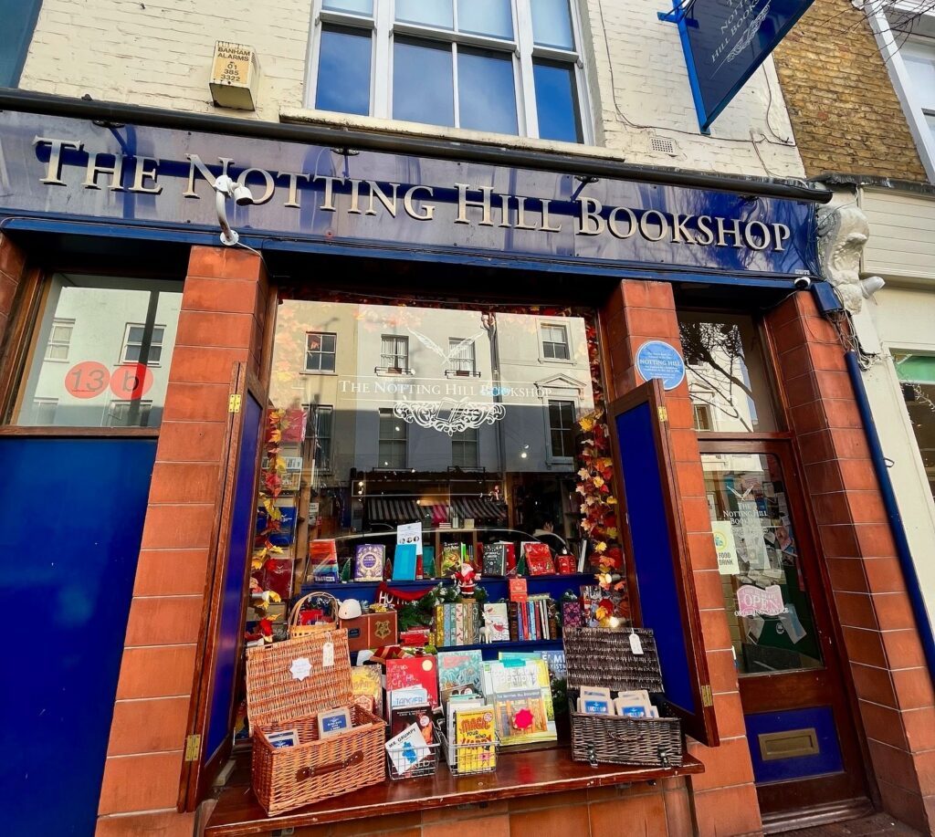
[[[631,631],[640,637],[642,654],[630,648]],[[569,690],[583,686],[663,690],[653,631],[569,628],[563,642]],[[661,713],[665,705],[658,708]],[[677,717],[585,715],[573,709],[570,714],[571,758],[575,761],[650,767],[682,764],[682,724]]]

